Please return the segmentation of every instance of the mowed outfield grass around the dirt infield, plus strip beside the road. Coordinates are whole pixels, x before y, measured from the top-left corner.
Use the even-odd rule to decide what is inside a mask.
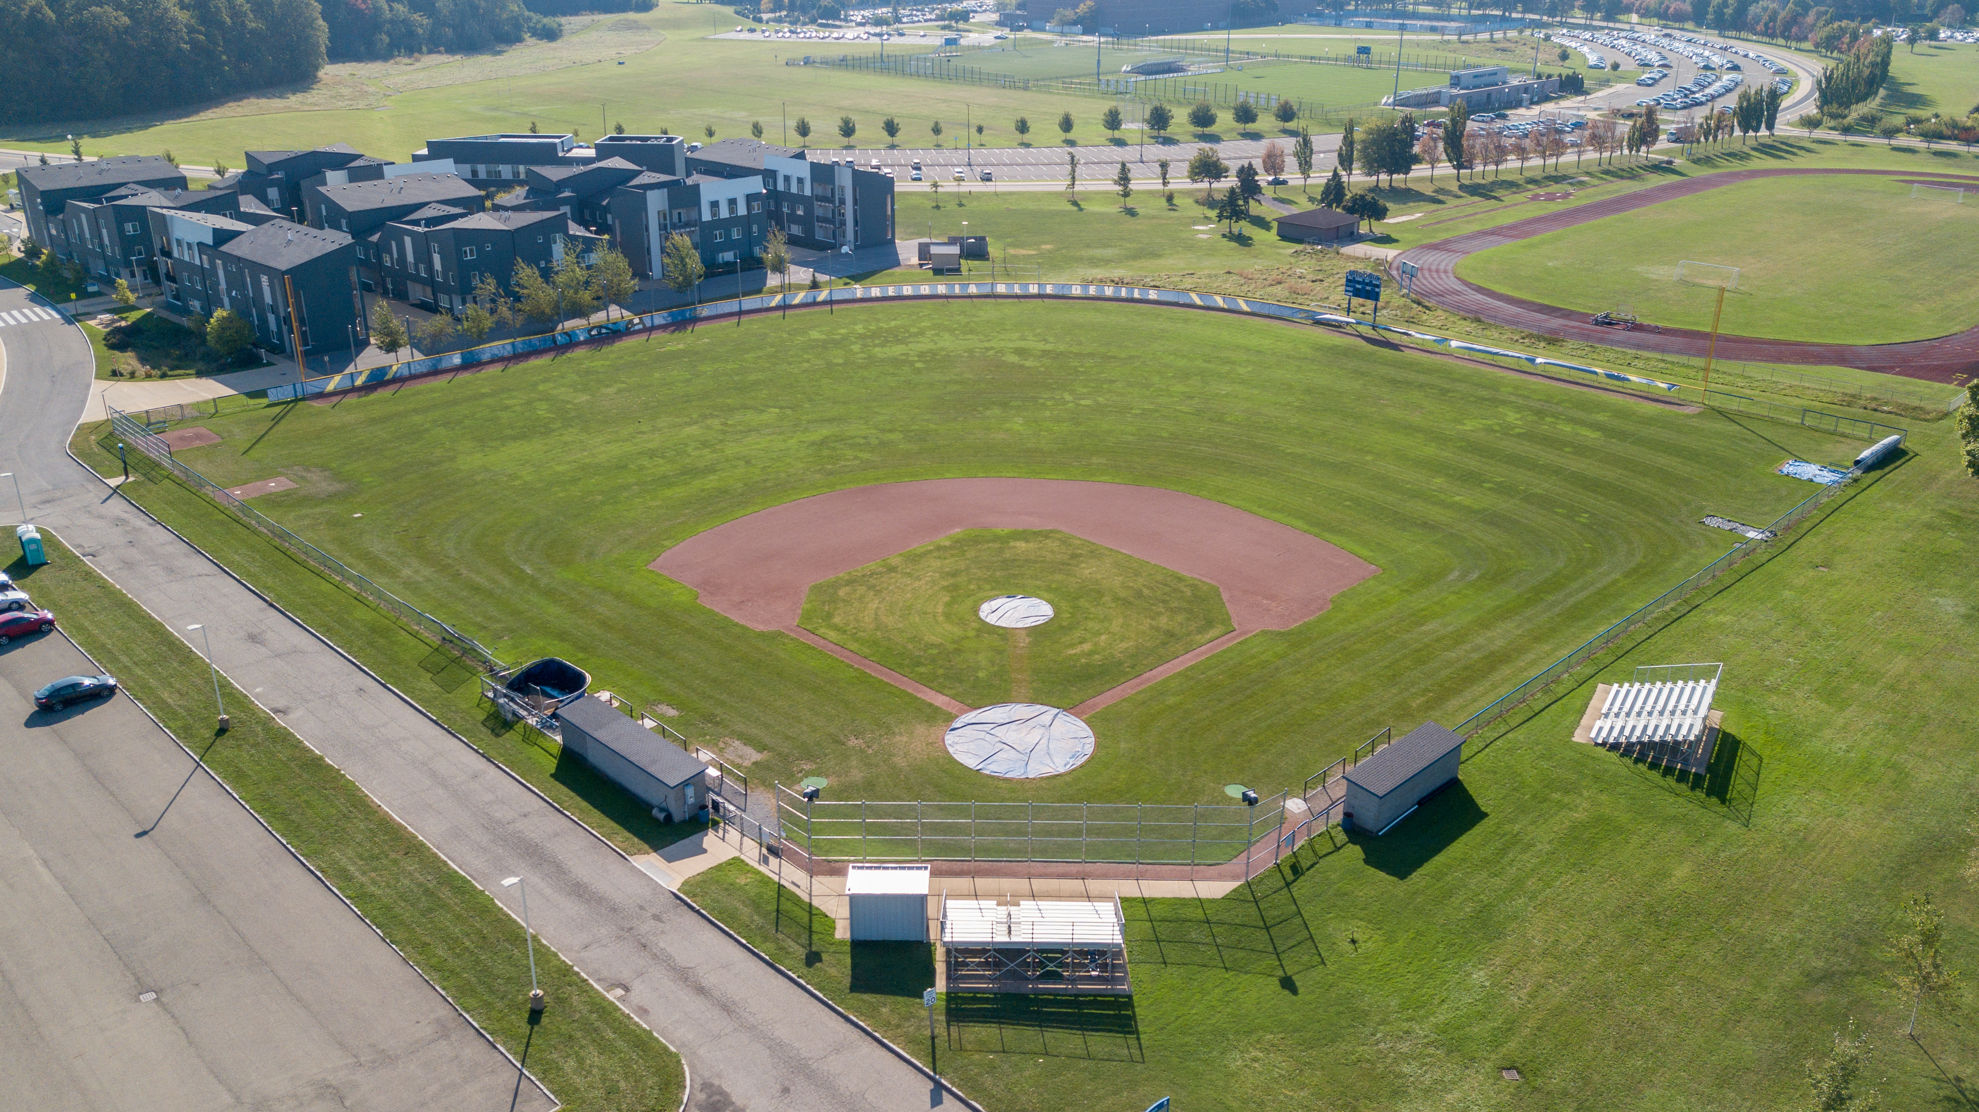
[[[1773,475],[1781,459],[1858,451],[1259,324],[1120,305],[796,313],[243,408],[202,421],[224,441],[180,459],[222,485],[297,479],[257,509],[509,661],[562,655],[598,687],[679,708],[669,724],[691,740],[754,754],[752,780],[825,774],[843,797],[1189,803],[1231,780],[1304,780],[1385,724],[1461,720],[1724,552],[1730,540],[1696,524],[1706,512],[1765,522],[1805,499]],[[792,350],[809,354],[778,354]],[[95,437],[77,447],[109,471]],[[1193,493],[1383,574],[1094,714],[1092,760],[1013,786],[940,750],[940,710],[647,570],[764,507],[954,475]],[[580,762],[503,732],[449,657],[212,503],[176,483],[127,491],[558,801],[633,847],[659,833]]]

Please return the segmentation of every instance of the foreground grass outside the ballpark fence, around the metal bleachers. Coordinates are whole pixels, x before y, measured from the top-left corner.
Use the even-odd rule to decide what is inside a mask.
[[[1466,746],[1461,786],[1385,839],[1336,831],[1219,900],[1128,900],[1130,1003],[942,999],[942,1072],[1009,1110],[1811,1108],[1803,1063],[1852,1017],[1884,1108],[1963,1106],[1979,1035],[1926,1009],[1906,1039],[1884,954],[1926,890],[1947,962],[1979,948],[1979,487],[1949,429],[1910,447]],[[1676,661],[1726,663],[1708,776],[1569,740],[1595,683]],[[926,1061],[926,948],[833,940],[738,863],[683,890]]]

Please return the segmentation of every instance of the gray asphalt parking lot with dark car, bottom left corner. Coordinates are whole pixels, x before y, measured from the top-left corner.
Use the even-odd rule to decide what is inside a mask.
[[[34,708],[83,671],[0,649],[0,1104],[554,1106],[131,698]]]

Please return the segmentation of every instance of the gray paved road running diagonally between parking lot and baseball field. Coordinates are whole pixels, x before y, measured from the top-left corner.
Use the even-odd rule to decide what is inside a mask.
[[[0,313],[28,303],[26,291],[0,291]],[[515,908],[515,888],[499,882],[526,875],[538,936],[592,981],[625,987],[621,1003],[681,1051],[689,1108],[956,1104],[69,459],[67,433],[91,380],[89,346],[73,328],[0,328],[0,471],[22,477],[30,514],[172,627],[204,621],[236,685],[485,890]],[[4,507],[0,514],[12,516]]]

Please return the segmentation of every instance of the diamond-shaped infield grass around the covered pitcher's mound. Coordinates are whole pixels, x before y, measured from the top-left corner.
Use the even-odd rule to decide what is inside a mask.
[[[999,629],[1023,594],[1055,615]],[[1231,631],[1211,584],[1067,532],[972,528],[853,568],[803,598],[803,627],[966,702],[1075,706]]]

